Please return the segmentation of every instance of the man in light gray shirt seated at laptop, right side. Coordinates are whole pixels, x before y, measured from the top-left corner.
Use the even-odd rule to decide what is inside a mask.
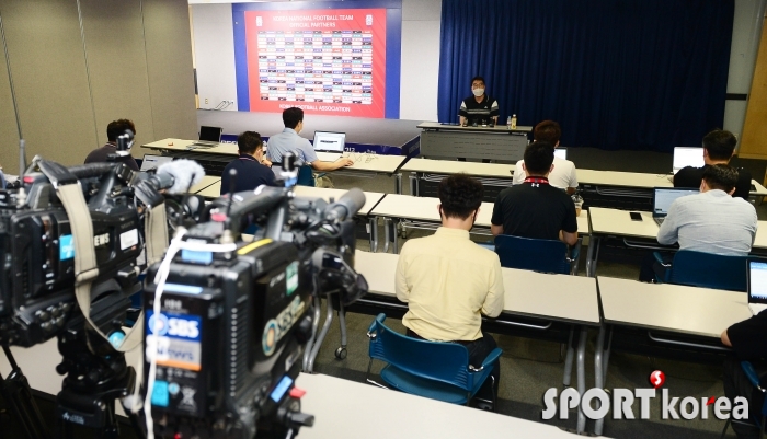
[[[678,198],[668,208],[657,242],[679,243],[680,250],[745,256],[756,236],[756,209],[743,198],[733,198],[737,171],[726,164],[703,172],[700,194]]]

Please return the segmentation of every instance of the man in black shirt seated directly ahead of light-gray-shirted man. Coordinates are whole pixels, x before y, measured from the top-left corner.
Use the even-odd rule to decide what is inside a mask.
[[[703,180],[703,172],[707,167],[714,164],[729,164],[730,159],[735,153],[735,145],[737,139],[732,132],[723,129],[714,129],[703,137],[703,167],[687,166],[679,170],[674,175],[674,187],[700,187],[700,182]],[[748,170],[737,169],[737,184],[733,197],[748,199],[751,192],[751,172]]]

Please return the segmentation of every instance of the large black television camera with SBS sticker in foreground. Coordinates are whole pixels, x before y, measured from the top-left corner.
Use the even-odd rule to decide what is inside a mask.
[[[289,184],[295,157],[284,163]],[[352,268],[351,218],[364,203],[359,189],[328,204],[261,186],[213,201],[204,222],[176,230],[144,292],[150,437],[285,438],[313,424],[294,385],[317,331],[312,300],[351,303],[367,292]]]

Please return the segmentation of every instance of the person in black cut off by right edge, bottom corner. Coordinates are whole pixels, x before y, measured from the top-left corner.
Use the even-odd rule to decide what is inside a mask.
[[[741,361],[752,361],[754,369],[764,376],[767,371],[767,311],[754,315],[748,320],[735,323],[722,333],[722,343],[735,351],[737,358],[729,357],[724,360],[724,395],[732,403],[736,396],[748,400],[751,418],[758,419],[762,413],[762,404],[765,401],[764,393],[754,388],[741,368]],[[739,439],[759,438],[758,430],[742,424],[732,424]]]

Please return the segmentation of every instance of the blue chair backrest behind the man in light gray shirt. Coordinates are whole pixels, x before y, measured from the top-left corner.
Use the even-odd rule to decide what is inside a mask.
[[[680,250],[674,255],[668,281],[692,287],[746,291],[747,256],[722,256]]]

